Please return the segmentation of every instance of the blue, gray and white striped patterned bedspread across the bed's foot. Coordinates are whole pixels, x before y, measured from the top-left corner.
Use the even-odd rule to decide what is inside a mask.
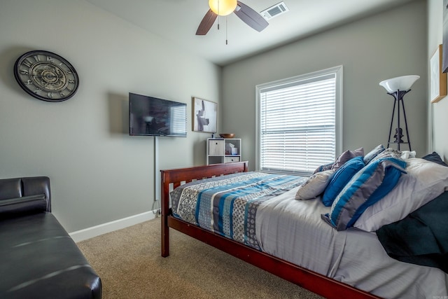
[[[306,178],[244,172],[193,181],[172,191],[173,215],[260,250],[255,216],[260,204],[300,186]]]

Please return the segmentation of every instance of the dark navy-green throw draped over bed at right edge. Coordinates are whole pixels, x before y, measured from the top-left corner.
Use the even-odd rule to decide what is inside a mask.
[[[448,191],[400,221],[377,230],[391,258],[448,273]]]

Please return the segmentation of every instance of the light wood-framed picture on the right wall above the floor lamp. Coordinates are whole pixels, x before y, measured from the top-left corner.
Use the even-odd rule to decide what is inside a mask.
[[[442,45],[437,47],[429,62],[430,101],[437,103],[447,95],[447,74],[442,72]]]

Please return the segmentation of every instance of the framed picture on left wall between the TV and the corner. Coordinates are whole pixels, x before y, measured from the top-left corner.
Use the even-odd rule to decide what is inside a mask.
[[[218,104],[193,97],[193,131],[216,133]]]

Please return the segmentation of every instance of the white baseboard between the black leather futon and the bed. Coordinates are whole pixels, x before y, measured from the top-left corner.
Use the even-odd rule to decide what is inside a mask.
[[[154,219],[157,216],[158,210],[146,211],[145,213],[118,219],[116,221],[95,225],[91,228],[85,228],[83,230],[77,230],[76,232],[70,232],[69,235],[73,239],[73,241],[80,242],[85,239],[90,239],[92,237],[106,234],[107,232],[121,230],[122,228],[127,228],[128,226],[136,225],[138,223]]]

